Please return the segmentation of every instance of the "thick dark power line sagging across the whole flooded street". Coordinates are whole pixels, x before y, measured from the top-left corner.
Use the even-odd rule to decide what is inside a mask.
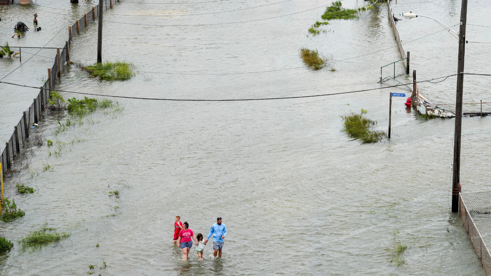
[[[464,75],[491,76],[489,74],[475,74],[475,73],[461,73],[461,74],[464,74]],[[448,77],[457,76],[457,75],[460,75],[460,74],[453,74],[453,75],[449,75],[449,76],[439,77],[439,78],[435,78],[435,79],[431,79],[431,80],[426,80],[426,81],[413,82],[413,83],[430,82],[430,81],[439,80],[439,79],[442,79],[442,78],[445,78],[445,80],[446,80]],[[28,85],[17,84],[17,83],[7,83],[7,82],[2,82],[2,81],[0,81],[0,83],[6,83],[6,84],[17,85],[17,86],[23,86],[23,87],[30,87],[30,88],[39,89],[39,87],[28,86]],[[193,100],[193,99],[142,98],[142,97],[113,96],[113,95],[101,95],[101,94],[93,94],[93,93],[73,92],[73,91],[66,91],[66,90],[59,90],[59,89],[52,89],[52,91],[66,92],[66,93],[75,93],[75,94],[82,94],[82,95],[101,96],[101,97],[137,99],[137,100],[180,101],[180,102],[232,102],[232,101],[283,100],[283,99],[299,99],[299,98],[312,98],[312,97],[332,96],[332,95],[341,95],[341,94],[348,94],[348,93],[355,93],[355,92],[365,92],[365,91],[380,90],[380,89],[398,87],[398,86],[403,86],[403,85],[408,85],[408,84],[413,84],[413,83],[397,84],[397,85],[386,86],[386,87],[363,89],[363,90],[355,90],[355,91],[340,92],[340,93],[331,93],[331,94],[321,94],[321,95],[294,96],[294,97],[276,97],[276,98],[260,98],[260,99],[228,99],[228,100]]]

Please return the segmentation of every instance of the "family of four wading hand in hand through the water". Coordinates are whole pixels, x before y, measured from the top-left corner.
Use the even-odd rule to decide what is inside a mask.
[[[217,223],[213,224],[206,236],[206,240],[203,241],[203,235],[198,233],[194,235],[192,229],[189,228],[188,221],[184,223],[181,222],[181,217],[176,216],[176,222],[174,222],[174,244],[177,244],[179,248],[183,250],[183,260],[186,261],[189,256],[189,251],[192,247],[192,240],[194,240],[194,245],[196,246],[196,252],[198,253],[198,258],[201,261],[203,259],[203,251],[208,244],[208,240],[213,236],[213,256],[221,258],[221,249],[223,248],[223,243],[225,236],[227,235],[227,227],[221,222],[221,218],[217,218]],[[192,239],[192,240],[191,240]]]

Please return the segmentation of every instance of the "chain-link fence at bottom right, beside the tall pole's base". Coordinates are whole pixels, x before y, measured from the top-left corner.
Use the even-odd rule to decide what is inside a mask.
[[[491,213],[491,191],[477,193],[460,193],[459,195],[459,217],[464,224],[472,247],[479,260],[483,264],[484,271],[491,276],[491,254],[483,237],[479,233],[474,220],[470,214],[490,214]],[[467,203],[466,203],[467,202]],[[490,218],[491,219],[491,218]]]

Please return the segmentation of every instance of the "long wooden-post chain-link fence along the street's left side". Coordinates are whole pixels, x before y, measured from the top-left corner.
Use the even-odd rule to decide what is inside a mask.
[[[118,0],[119,2],[119,0]],[[103,8],[108,9],[108,7],[113,6],[113,0],[104,0],[103,1]],[[98,10],[99,5],[93,7],[89,12],[94,12],[96,16],[98,16],[97,10]],[[92,16],[94,14],[92,13]],[[79,26],[78,31],[75,32],[75,34],[80,33],[80,30],[82,28],[85,28],[88,26],[89,22],[92,22],[93,18],[96,17],[89,17],[88,13],[84,13],[84,16],[82,19],[87,18],[87,21],[83,21],[83,24],[80,25],[80,20],[77,20],[75,25],[75,28]],[[90,19],[90,20],[89,20]],[[34,124],[41,119],[42,116],[44,116],[44,111],[46,110],[46,107],[48,105],[48,101],[50,99],[50,90],[55,89],[56,86],[56,80],[61,77],[61,71],[65,69],[65,67],[68,65],[70,62],[70,45],[71,41],[73,39],[74,34],[70,31],[73,26],[69,26],[69,39],[66,41],[65,46],[60,49],[60,48],[36,48],[36,47],[10,47],[14,49],[19,49],[19,52],[24,55],[24,58],[27,60],[27,58],[30,58],[29,61],[31,60],[37,60],[37,61],[47,61],[47,60],[54,60],[53,66],[51,68],[48,68],[48,80],[44,83],[43,86],[40,87],[40,91],[37,94],[37,97],[34,99],[33,103],[30,105],[30,107],[23,112],[23,115],[21,119],[19,120],[19,123],[14,127],[14,133],[8,140],[8,142],[5,142],[5,148],[3,149],[2,154],[0,155],[0,162],[1,162],[1,169],[2,169],[2,174],[5,175],[5,173],[8,173],[12,169],[12,162],[17,158],[17,156],[20,153],[21,146],[24,145],[26,142],[26,139],[29,138],[29,131],[32,130],[35,126]],[[46,56],[45,56],[46,55]],[[50,57],[53,56],[53,57]],[[16,55],[17,57],[17,55]],[[19,56],[19,58],[21,58]]]

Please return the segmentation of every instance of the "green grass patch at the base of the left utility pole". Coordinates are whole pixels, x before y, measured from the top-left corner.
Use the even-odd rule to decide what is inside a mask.
[[[82,69],[92,74],[92,76],[99,77],[101,80],[106,81],[129,80],[135,76],[135,66],[133,63],[124,61],[106,61],[106,63],[82,66]]]

